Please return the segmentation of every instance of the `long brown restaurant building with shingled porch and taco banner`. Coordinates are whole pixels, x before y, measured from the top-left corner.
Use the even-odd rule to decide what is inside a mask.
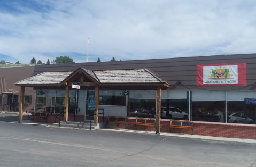
[[[190,120],[195,135],[256,139],[255,70],[256,54],[45,64],[16,86],[34,88],[35,109],[75,108],[65,121],[85,121],[96,109],[98,123],[104,109],[105,117],[125,116],[126,129],[137,117],[156,118],[157,133],[168,132],[170,120]]]

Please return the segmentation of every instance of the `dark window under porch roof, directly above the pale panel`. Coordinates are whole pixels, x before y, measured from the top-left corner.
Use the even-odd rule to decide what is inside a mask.
[[[99,105],[126,105],[126,96],[121,91],[103,90],[99,91]]]

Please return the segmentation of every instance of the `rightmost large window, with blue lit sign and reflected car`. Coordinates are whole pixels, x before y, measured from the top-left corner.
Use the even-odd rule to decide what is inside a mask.
[[[256,122],[256,93],[227,92],[227,122],[255,124]]]

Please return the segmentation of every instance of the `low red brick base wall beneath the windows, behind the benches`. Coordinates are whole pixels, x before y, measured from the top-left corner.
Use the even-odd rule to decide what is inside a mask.
[[[83,121],[83,115],[75,115],[75,121]],[[63,116],[60,118],[63,121]],[[99,122],[103,121],[99,117]],[[106,122],[107,118],[104,118]],[[41,119],[35,119],[36,122],[43,122]],[[55,123],[55,114],[48,114],[48,123]],[[68,121],[74,121],[74,115],[68,115]],[[57,118],[56,123],[59,122]],[[136,118],[126,118],[126,129],[134,130],[134,123]],[[161,132],[169,132],[168,120],[161,120]],[[243,138],[243,139],[256,139],[256,126],[253,125],[239,125],[239,124],[221,124],[221,123],[207,123],[207,122],[194,122],[193,135],[214,136],[214,137],[230,137],[230,138]],[[122,129],[123,125],[118,124],[117,128]],[[153,131],[154,127],[150,126],[137,126],[137,130]],[[191,129],[172,128],[172,133],[181,133],[191,135]]]

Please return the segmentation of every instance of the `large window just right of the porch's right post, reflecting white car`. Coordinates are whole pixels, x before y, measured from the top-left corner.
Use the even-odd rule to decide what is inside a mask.
[[[161,118],[188,120],[187,91],[162,91],[161,92]],[[169,108],[169,112],[166,112]]]

